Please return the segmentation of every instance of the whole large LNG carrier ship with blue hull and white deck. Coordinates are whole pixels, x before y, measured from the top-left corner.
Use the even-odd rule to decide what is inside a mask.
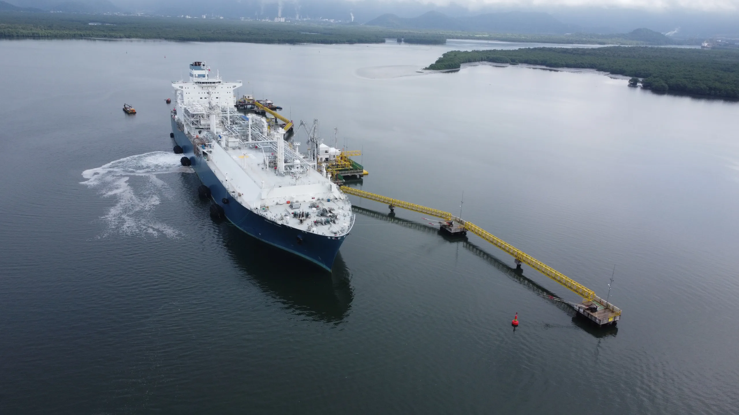
[[[239,113],[234,107],[239,86],[241,81],[212,76],[205,62],[190,65],[189,81],[172,81],[174,151],[183,153],[183,165],[200,177],[200,196],[213,199],[211,215],[331,270],[355,216],[347,196],[317,162],[329,148],[311,140],[313,148],[301,154],[285,142],[278,123]]]

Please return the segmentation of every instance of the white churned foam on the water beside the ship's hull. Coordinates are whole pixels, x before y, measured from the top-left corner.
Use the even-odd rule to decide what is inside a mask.
[[[180,164],[180,157],[180,154],[153,151],[82,172],[87,180],[81,184],[97,189],[103,197],[115,198],[116,201],[108,213],[101,217],[107,227],[102,236],[123,233],[174,238],[180,235],[179,230],[154,217],[154,207],[162,199],[172,196],[171,188],[157,174],[192,171]],[[132,177],[134,179],[130,180]]]

